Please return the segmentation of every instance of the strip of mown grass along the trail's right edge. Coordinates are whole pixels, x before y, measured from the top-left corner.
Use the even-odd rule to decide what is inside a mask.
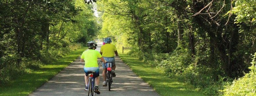
[[[203,92],[196,90],[192,85],[165,76],[161,68],[155,68],[134,56],[118,50],[121,59],[132,71],[153,87],[161,96],[204,96]]]

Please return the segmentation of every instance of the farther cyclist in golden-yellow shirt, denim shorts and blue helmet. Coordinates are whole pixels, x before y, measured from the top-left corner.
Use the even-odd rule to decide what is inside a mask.
[[[114,56],[118,56],[118,53],[116,51],[116,48],[114,45],[110,44],[112,42],[111,38],[107,37],[103,41],[105,45],[103,45],[100,49],[100,54],[103,56],[103,58],[107,62],[112,62],[112,77],[115,77],[115,58]],[[102,77],[103,77],[103,86],[107,86],[106,83],[106,66],[105,64],[102,64],[103,72],[102,72]]]

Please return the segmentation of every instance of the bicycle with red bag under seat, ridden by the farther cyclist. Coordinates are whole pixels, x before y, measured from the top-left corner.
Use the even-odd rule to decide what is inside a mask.
[[[109,83],[109,91],[110,91],[110,88],[111,88],[111,84],[113,82],[112,80],[112,62],[106,62],[106,68],[107,68],[107,76],[106,76],[106,83],[108,85]]]

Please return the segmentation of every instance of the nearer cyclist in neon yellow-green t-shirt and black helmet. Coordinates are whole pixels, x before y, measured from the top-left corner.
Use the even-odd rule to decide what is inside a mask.
[[[88,78],[89,78],[89,71],[95,72],[93,74],[93,78],[95,78],[95,93],[100,94],[100,90],[99,90],[99,82],[100,82],[100,73],[99,73],[99,66],[97,63],[97,59],[100,58],[101,61],[103,61],[103,63],[106,63],[106,61],[104,60],[104,58],[102,57],[102,55],[96,51],[96,42],[94,41],[90,41],[87,42],[87,46],[88,46],[88,50],[84,51],[81,55],[81,62],[84,62],[84,80],[85,80],[85,90],[88,89],[87,88],[87,84],[88,84]]]

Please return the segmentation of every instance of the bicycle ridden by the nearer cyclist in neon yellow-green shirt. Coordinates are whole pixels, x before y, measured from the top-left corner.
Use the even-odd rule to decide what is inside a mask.
[[[98,65],[102,62],[101,60],[99,61]],[[88,72],[90,77],[88,78],[88,85],[87,85],[87,91],[88,91],[88,96],[95,96],[95,78],[93,78],[93,74],[95,72],[89,71]],[[86,90],[86,89],[85,89]]]

